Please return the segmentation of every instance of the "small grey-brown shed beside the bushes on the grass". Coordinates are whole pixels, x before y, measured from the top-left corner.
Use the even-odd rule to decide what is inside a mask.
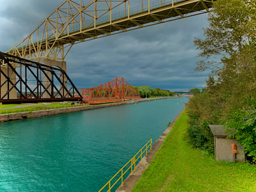
[[[214,136],[214,153],[216,161],[244,162],[243,146],[236,139],[228,139],[223,125],[209,125]],[[233,154],[232,143],[236,144],[237,154]]]

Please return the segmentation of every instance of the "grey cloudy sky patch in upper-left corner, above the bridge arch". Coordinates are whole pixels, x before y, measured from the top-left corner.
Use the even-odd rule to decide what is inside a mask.
[[[8,51],[24,40],[61,2],[0,0],[0,51]]]

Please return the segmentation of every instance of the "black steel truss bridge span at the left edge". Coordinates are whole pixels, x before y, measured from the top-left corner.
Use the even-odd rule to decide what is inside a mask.
[[[13,73],[14,81],[10,77]],[[31,84],[31,81],[34,84]],[[17,93],[17,99],[10,97],[11,92]],[[51,102],[79,99],[83,98],[64,70],[0,52],[0,102]]]

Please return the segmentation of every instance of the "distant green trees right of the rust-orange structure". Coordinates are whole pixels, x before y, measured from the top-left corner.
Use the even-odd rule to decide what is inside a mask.
[[[140,92],[142,98],[148,97],[173,97],[175,92],[169,90],[162,90],[160,88],[150,88],[150,86],[135,86],[136,90]]]

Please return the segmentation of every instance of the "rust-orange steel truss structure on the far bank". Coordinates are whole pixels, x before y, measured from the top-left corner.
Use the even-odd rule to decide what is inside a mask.
[[[123,78],[115,78],[108,83],[93,88],[77,88],[88,104],[121,102],[129,99],[140,99],[140,92]],[[77,96],[79,97],[79,96]]]

